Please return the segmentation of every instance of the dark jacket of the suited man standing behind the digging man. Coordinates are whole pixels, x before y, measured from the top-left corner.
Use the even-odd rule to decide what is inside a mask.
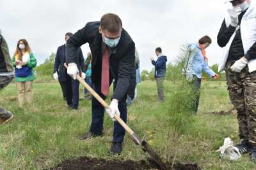
[[[67,77],[67,69],[64,67],[64,63],[66,62],[65,52],[66,45],[59,46],[55,57],[53,73],[57,71],[59,81],[66,81]],[[78,69],[85,73],[84,57],[81,48],[77,48],[77,52],[79,54],[79,57],[74,62],[76,62]]]

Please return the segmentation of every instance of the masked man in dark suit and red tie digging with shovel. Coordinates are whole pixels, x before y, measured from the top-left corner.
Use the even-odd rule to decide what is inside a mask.
[[[89,43],[92,52],[92,84],[93,89],[103,98],[109,95],[109,86],[113,79],[113,96],[106,110],[109,117],[115,114],[126,122],[127,106],[126,98],[134,96],[136,85],[135,70],[135,44],[129,34],[122,28],[122,20],[113,13],[107,13],[99,21],[88,22],[83,29],[71,36],[67,41],[66,61],[68,63],[67,73],[76,79],[78,73],[76,48]],[[132,88],[130,88],[132,87]],[[83,134],[80,139],[88,139],[102,136],[104,120],[104,107],[93,97],[92,99],[92,123],[90,131]],[[122,152],[122,142],[125,130],[114,122],[113,145],[110,153]]]

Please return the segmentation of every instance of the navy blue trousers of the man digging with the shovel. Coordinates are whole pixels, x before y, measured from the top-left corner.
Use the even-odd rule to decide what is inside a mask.
[[[116,85],[114,83],[114,89]],[[93,89],[97,94],[99,94],[102,99],[106,99],[106,96],[104,96],[100,92],[100,86],[99,85],[93,85]],[[124,120],[126,123],[127,121],[127,105],[126,105],[126,96],[119,101],[118,103],[118,109],[120,111],[120,118]],[[92,124],[90,126],[90,132],[96,135],[102,134],[103,130],[103,120],[104,120],[104,107],[95,99],[95,97],[92,98]],[[113,132],[113,142],[122,143],[124,141],[124,135],[125,130],[124,128],[118,123],[114,122],[114,132]]]

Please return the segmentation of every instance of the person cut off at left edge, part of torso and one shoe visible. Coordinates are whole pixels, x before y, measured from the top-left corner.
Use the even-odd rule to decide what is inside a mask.
[[[0,90],[6,87],[14,78],[12,61],[8,45],[0,32]],[[13,118],[10,111],[0,107],[0,124],[8,122]]]

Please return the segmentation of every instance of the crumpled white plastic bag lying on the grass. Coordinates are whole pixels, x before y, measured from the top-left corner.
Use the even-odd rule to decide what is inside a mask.
[[[216,152],[220,152],[221,158],[229,158],[230,160],[238,160],[241,158],[238,148],[233,145],[233,141],[231,141],[230,138],[225,138],[224,145]]]

